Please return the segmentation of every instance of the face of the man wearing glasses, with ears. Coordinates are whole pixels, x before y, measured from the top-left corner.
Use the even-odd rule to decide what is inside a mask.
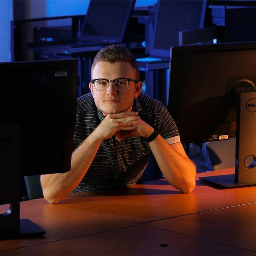
[[[114,80],[117,78],[135,78],[135,73],[128,62],[108,62],[99,61],[92,73],[92,79]],[[89,84],[94,102],[103,113],[120,113],[131,111],[134,98],[140,95],[142,83],[130,81],[125,90],[116,90],[113,83],[110,82],[106,90],[96,90],[92,83]]]

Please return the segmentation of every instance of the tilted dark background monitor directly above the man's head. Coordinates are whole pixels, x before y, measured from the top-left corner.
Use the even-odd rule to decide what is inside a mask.
[[[79,41],[121,43],[135,0],[91,0]]]

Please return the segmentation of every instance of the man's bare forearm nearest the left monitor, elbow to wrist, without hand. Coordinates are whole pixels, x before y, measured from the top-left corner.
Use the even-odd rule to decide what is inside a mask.
[[[52,204],[67,196],[80,183],[89,169],[102,140],[90,134],[73,152],[69,172],[41,175],[44,198]]]

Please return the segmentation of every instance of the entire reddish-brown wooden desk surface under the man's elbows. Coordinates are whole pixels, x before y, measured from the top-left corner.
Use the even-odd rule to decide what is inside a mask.
[[[232,172],[234,172],[233,169],[226,169],[207,174],[200,173],[197,178]],[[225,239],[214,240],[212,237],[207,238],[209,241],[205,240],[207,232],[206,234],[200,233],[203,225],[197,226],[196,221],[189,230],[191,226],[189,218],[196,220],[196,216],[206,216],[206,219],[209,218],[212,221],[213,217],[209,215],[212,214],[212,216],[219,216],[221,220],[221,216],[224,216],[221,212],[232,209],[227,207],[254,202],[256,202],[256,187],[214,189],[204,185],[198,179],[197,187],[191,194],[183,194],[168,185],[165,180],[157,180],[143,185],[134,185],[128,189],[70,195],[58,205],[48,204],[43,198],[21,202],[20,218],[29,218],[47,233],[37,238],[0,241],[0,255],[29,253],[34,255],[249,255],[252,253],[256,255],[250,251],[256,249],[249,241],[241,244],[241,249],[236,248],[236,239],[238,239],[236,237],[233,239],[234,243]],[[245,209],[245,206],[239,207]],[[235,208],[239,209],[233,207]],[[247,215],[248,211],[245,210],[243,218],[247,218]],[[182,218],[184,218],[184,223],[188,218],[187,227],[186,224],[183,224],[184,227],[172,224],[170,228],[169,221],[177,220],[177,223],[180,223]],[[226,217],[223,218],[226,219]],[[202,223],[207,223],[206,219]],[[166,230],[158,225],[166,225]],[[225,224],[222,223],[216,227],[215,232],[218,233],[221,229],[225,229]],[[207,226],[206,230],[209,232],[213,228]],[[256,243],[254,237],[251,239]],[[172,242],[171,245],[170,242]],[[169,246],[159,247],[162,243],[169,244]],[[248,248],[250,249],[243,250]]]

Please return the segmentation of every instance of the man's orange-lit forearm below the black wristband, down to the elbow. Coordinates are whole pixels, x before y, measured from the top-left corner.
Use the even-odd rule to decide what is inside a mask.
[[[182,192],[191,192],[195,187],[196,169],[186,154],[176,151],[160,135],[149,146],[166,180]]]

